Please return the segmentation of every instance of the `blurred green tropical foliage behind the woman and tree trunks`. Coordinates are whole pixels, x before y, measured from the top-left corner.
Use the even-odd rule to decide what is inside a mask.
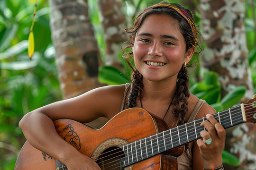
[[[101,28],[99,8],[94,0],[88,0],[89,16],[94,28],[95,37],[105,61],[106,44],[102,41],[104,33]],[[175,0],[180,2],[180,0]],[[155,3],[154,0],[123,0],[123,10],[127,25],[132,25],[136,11]],[[193,0],[193,3],[198,3]],[[245,28],[249,67],[256,88],[256,33],[255,33],[255,0],[245,0]],[[35,17],[35,53],[32,60],[27,55],[27,39],[32,24],[35,0],[0,0],[0,170],[13,170],[18,153],[26,141],[18,127],[19,120],[29,111],[51,102],[62,100],[63,93],[55,63],[55,48],[51,39],[50,7],[47,0],[38,0]],[[186,4],[184,4],[186,5]],[[196,22],[200,24],[200,14]],[[119,58],[120,57],[119,52]],[[126,68],[125,62],[121,61]],[[199,66],[196,73],[200,72]],[[122,74],[125,73],[125,74]],[[122,84],[129,81],[130,71],[119,71],[118,68],[106,66],[99,72],[99,79],[105,84]],[[207,100],[216,111],[224,110],[237,104],[245,94],[245,87],[238,86],[221,98],[218,74],[205,72],[201,79],[192,77],[191,92]],[[232,99],[232,100],[230,100]],[[226,153],[224,153],[226,154]],[[234,166],[236,162],[227,162]],[[225,160],[223,160],[225,161]],[[233,159],[234,161],[234,159]],[[239,163],[238,163],[239,164]]]

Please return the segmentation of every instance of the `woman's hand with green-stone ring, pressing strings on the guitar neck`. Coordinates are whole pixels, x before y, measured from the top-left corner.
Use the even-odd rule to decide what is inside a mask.
[[[209,121],[203,121],[201,126],[204,126],[208,132],[205,130],[200,132],[203,140],[197,140],[197,145],[201,152],[204,168],[214,169],[222,164],[221,153],[225,144],[226,131],[212,115],[207,114],[206,119]],[[205,141],[210,139],[210,137],[212,142],[206,144]]]

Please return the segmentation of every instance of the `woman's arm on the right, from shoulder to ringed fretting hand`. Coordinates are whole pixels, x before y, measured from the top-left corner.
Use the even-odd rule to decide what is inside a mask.
[[[204,126],[207,131],[201,131],[201,139],[193,143],[193,169],[194,170],[212,170],[222,165],[221,153],[225,144],[226,131],[216,119],[210,114],[215,113],[215,110],[208,104],[203,104],[201,110],[195,119],[206,117],[209,121],[203,121],[201,126]],[[204,141],[212,138],[211,144],[206,144]]]

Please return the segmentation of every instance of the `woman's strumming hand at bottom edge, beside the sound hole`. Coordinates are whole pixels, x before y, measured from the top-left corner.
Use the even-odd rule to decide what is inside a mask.
[[[81,156],[82,155],[82,156]],[[79,155],[66,164],[68,170],[101,170],[98,164],[88,156],[83,154]]]

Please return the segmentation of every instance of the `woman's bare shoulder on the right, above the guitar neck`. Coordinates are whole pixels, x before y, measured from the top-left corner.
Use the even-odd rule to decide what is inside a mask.
[[[191,102],[192,102],[192,106],[194,107],[196,105],[196,103],[199,101],[199,99],[192,95],[191,96]],[[201,109],[198,111],[195,119],[200,119],[202,117],[205,117],[208,113],[209,114],[213,114],[216,111],[213,109],[213,107],[211,107],[209,104],[207,104],[206,102],[204,102],[201,106]]]

